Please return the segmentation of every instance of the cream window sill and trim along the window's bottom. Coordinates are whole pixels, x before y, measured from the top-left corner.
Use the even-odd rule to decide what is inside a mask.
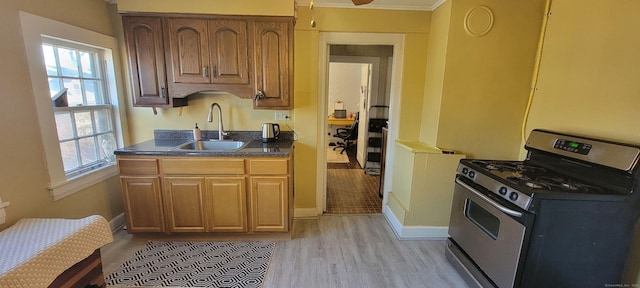
[[[105,181],[116,175],[118,175],[118,168],[114,164],[106,166],[99,170],[91,171],[90,173],[84,175],[77,176],[63,183],[51,185],[49,187],[49,190],[53,195],[53,201],[58,201],[64,197],[72,195],[78,191]]]

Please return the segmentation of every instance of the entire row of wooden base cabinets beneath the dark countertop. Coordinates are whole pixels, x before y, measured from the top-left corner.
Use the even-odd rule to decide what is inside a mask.
[[[128,231],[287,232],[290,165],[289,158],[118,156]]]

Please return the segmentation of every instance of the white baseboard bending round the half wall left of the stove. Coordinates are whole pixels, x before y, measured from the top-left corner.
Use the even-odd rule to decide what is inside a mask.
[[[384,205],[382,214],[400,240],[443,240],[449,237],[449,226],[403,226],[387,205]]]

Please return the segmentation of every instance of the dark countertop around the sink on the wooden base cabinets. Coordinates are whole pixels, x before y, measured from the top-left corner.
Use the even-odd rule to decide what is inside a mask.
[[[191,135],[188,133],[181,134]],[[156,138],[153,140],[117,149],[114,154],[183,157],[289,157],[290,153],[293,152],[293,141],[289,137],[283,137],[283,139],[280,139],[277,142],[269,143],[262,143],[261,138],[246,139],[244,137],[239,137],[243,139],[238,140],[249,142],[248,145],[240,150],[188,151],[178,150],[177,148],[182,144],[193,142],[192,136],[191,138],[163,138],[162,136],[158,137],[159,134],[157,132],[155,136]]]

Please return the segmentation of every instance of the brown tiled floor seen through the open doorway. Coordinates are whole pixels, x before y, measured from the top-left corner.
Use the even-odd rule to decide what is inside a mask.
[[[365,174],[355,160],[354,150],[348,150],[349,163],[327,164],[326,213],[382,213],[382,199],[378,196],[380,176]]]

